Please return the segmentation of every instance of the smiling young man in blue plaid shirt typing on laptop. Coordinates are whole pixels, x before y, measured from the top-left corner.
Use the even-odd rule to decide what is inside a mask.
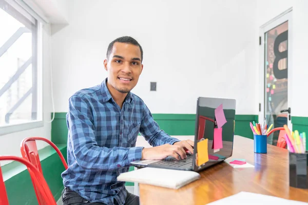
[[[192,141],[160,130],[142,99],[130,92],[142,72],[142,59],[142,47],[132,37],[113,40],[104,60],[108,77],[69,98],[64,205],[139,204],[125,182],[117,181],[131,161],[170,155],[183,159],[185,149],[193,153]],[[135,147],[139,132],[152,148]]]

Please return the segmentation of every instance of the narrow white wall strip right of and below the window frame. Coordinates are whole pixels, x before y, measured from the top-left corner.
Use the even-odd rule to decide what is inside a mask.
[[[25,137],[40,136],[51,139],[51,78],[50,78],[50,55],[49,55],[49,25],[46,25],[43,30],[43,117],[44,126],[36,129],[15,132],[0,136],[0,155],[14,155],[22,156],[20,151],[21,141]],[[42,149],[46,147],[45,142],[37,142],[37,148]],[[1,165],[9,161],[2,162]]]

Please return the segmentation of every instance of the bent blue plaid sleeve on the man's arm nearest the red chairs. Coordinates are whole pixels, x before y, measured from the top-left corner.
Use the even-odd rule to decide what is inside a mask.
[[[140,160],[143,147],[99,147],[95,140],[95,127],[91,107],[80,96],[69,99],[67,115],[72,153],[78,165],[90,170],[113,170]]]

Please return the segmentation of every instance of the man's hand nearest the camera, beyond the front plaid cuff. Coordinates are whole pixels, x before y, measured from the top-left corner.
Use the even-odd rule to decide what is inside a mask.
[[[176,144],[176,143],[175,143]],[[186,152],[183,146],[165,144],[153,148],[143,148],[141,159],[164,159],[167,156],[174,156],[176,159],[186,159]],[[192,151],[194,153],[194,151]]]

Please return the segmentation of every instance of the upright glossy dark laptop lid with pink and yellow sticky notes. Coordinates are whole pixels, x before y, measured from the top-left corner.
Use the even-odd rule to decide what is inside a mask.
[[[232,156],[235,107],[235,99],[198,98],[194,170],[215,165]]]

